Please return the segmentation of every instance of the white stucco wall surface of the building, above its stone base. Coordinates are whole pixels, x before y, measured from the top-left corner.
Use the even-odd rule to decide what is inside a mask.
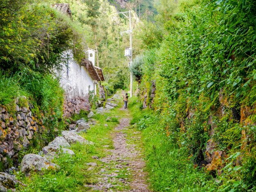
[[[60,84],[65,89],[66,96],[69,98],[84,97],[90,91],[94,90],[94,83],[84,66],[80,66],[73,59],[73,54],[65,54],[66,62],[63,63],[63,69],[59,74]]]

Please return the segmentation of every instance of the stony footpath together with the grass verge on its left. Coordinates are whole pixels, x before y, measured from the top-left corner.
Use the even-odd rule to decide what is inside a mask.
[[[17,190],[148,191],[143,172],[141,132],[130,127],[131,113],[122,109],[121,99],[117,104],[118,107],[108,113],[96,114],[93,117],[96,124],[81,134],[94,145],[71,145],[76,155],[60,154],[53,161],[59,165],[57,170],[33,172],[30,176],[15,172],[25,183]]]

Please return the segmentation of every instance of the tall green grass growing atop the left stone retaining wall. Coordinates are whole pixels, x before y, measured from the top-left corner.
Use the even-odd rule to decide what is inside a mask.
[[[13,75],[0,72],[0,76],[0,105],[13,105],[18,97],[26,96],[38,113],[62,113],[64,90],[54,76],[28,68]]]

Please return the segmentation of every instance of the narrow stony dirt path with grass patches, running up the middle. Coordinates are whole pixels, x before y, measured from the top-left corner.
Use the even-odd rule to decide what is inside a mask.
[[[130,118],[122,118],[115,127],[112,133],[115,149],[109,150],[111,154],[100,159],[104,166],[99,172],[99,182],[90,185],[92,190],[150,192],[143,171],[145,163],[134,144],[136,142],[132,142],[141,138],[137,136],[139,132],[129,128],[129,123]]]

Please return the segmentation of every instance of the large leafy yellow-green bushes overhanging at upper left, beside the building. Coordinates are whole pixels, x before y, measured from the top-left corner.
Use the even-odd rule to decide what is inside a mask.
[[[14,6],[13,6],[14,4]],[[82,36],[62,13],[32,0],[4,0],[0,5],[0,66],[46,72],[58,67],[63,51],[83,58]]]

